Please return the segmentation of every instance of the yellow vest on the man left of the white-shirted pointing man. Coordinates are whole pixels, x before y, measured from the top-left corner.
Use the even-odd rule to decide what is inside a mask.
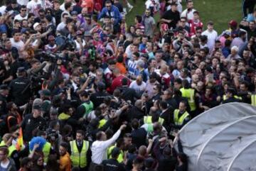
[[[81,153],[78,151],[78,146],[75,142],[75,140],[70,142],[70,148],[71,148],[71,155],[70,159],[72,161],[73,167],[81,167],[84,168],[87,166],[87,150],[89,148],[89,141],[83,140],[82,141],[82,150]]]

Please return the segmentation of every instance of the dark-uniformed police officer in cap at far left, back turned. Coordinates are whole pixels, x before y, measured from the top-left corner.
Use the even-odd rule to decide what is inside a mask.
[[[24,67],[18,67],[17,78],[13,79],[9,85],[11,92],[11,99],[17,106],[22,106],[28,103],[31,96],[30,81],[26,77],[26,70]],[[26,89],[28,87],[28,89]]]

